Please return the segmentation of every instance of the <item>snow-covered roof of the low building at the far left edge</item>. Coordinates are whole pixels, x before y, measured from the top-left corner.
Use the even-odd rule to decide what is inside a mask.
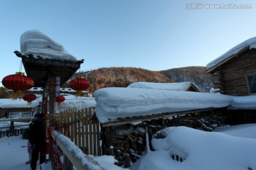
[[[32,101],[31,105],[28,105],[23,99],[0,98],[0,108],[35,108],[36,106],[38,101]]]

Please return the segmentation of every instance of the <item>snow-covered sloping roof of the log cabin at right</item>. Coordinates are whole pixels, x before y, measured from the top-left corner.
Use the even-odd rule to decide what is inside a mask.
[[[218,67],[222,62],[226,62],[230,60],[234,55],[238,54],[238,52],[244,50],[246,47],[249,47],[250,49],[256,48],[256,37],[250,38],[248,40],[245,40],[244,42],[241,42],[239,45],[236,45],[232,49],[228,50],[228,52],[225,52],[220,57],[216,58],[212,62],[209,62],[206,67],[207,69],[211,71],[211,69],[214,69],[215,67]]]

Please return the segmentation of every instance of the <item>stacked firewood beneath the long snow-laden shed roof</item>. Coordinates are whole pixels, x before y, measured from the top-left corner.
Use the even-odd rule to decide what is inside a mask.
[[[145,127],[148,127],[149,141],[152,135],[161,129],[171,126],[186,126],[204,131],[213,131],[214,128],[225,125],[225,118],[222,115],[208,113],[193,113],[187,115],[173,116],[170,118],[150,120],[139,124],[117,125],[112,127],[112,135],[108,133],[109,146],[106,154],[113,155],[122,167],[129,167],[146,152]],[[157,134],[156,138],[164,138]],[[150,149],[154,150],[149,143]]]

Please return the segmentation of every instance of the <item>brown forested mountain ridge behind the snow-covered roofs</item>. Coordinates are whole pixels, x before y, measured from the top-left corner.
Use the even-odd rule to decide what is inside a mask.
[[[136,67],[104,67],[90,72],[78,72],[75,76],[84,76],[90,81],[88,91],[91,94],[105,87],[127,87],[136,81],[159,83],[191,81],[197,84],[201,91],[209,91],[213,86],[206,67],[181,67],[163,71],[150,71]]]

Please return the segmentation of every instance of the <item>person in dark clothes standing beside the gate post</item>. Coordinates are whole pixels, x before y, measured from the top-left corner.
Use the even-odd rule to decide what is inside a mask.
[[[30,125],[29,141],[32,148],[31,169],[36,169],[36,164],[39,157],[40,164],[46,162],[46,128],[44,125],[46,115],[44,113],[37,113],[34,115],[34,120]]]

